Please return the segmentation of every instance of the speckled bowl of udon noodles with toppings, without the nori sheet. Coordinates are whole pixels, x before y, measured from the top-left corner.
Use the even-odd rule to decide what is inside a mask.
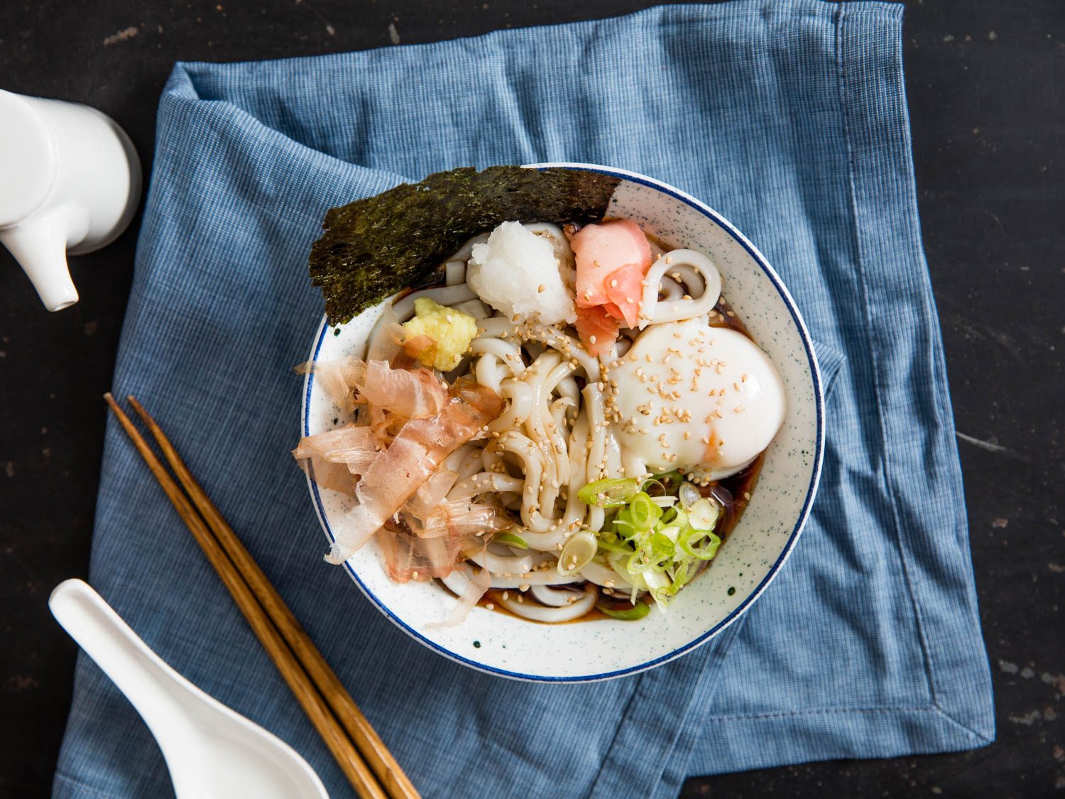
[[[601,218],[508,219],[323,320],[294,454],[326,560],[406,633],[603,680],[706,642],[780,572],[823,396],[794,301],[720,214],[624,169],[526,168],[616,185]]]

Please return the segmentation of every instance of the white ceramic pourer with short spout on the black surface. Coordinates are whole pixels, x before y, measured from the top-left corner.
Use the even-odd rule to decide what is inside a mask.
[[[111,117],[0,89],[0,243],[48,310],[78,301],[66,257],[117,239],[140,198],[141,162]]]

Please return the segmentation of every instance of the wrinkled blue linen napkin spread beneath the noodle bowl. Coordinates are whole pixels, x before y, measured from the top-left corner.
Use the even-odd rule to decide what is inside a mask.
[[[667,797],[691,774],[992,740],[901,13],[737,1],[176,66],[114,391],[168,430],[427,796]],[[820,492],[776,582],[710,643],[589,685],[489,676],[408,638],[322,562],[289,455],[291,366],[322,313],[306,260],[326,209],[439,169],[540,161],[635,169],[721,211],[782,274],[833,384]],[[109,424],[93,584],[180,672],[349,795]],[[169,790],[148,731],[82,657],[54,795]]]

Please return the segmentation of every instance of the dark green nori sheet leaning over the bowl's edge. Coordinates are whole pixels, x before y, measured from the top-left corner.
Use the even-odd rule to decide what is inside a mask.
[[[581,169],[464,166],[331,208],[308,268],[330,325],[424,280],[468,239],[503,222],[603,217],[620,178]]]

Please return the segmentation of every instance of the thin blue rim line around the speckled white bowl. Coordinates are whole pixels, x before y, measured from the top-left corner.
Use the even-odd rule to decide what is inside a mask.
[[[366,599],[374,603],[384,616],[387,616],[396,626],[403,630],[405,633],[410,635],[412,638],[419,642],[425,645],[433,652],[443,655],[449,661],[460,663],[463,666],[469,666],[470,668],[476,669],[477,671],[482,671],[487,674],[495,674],[497,676],[510,678],[512,680],[523,680],[527,682],[537,683],[588,683],[595,682],[600,680],[610,680],[619,676],[626,676],[629,674],[637,674],[641,671],[646,671],[653,669],[656,666],[661,666],[665,663],[673,661],[681,655],[690,652],[697,647],[701,647],[706,643],[710,638],[715,637],[721,633],[725,627],[736,621],[740,616],[742,616],[748,608],[761,596],[761,593],[769,587],[769,584],[773,581],[776,574],[780,572],[781,568],[787,561],[788,557],[791,555],[794,549],[796,542],[799,540],[799,535],[802,533],[803,526],[806,524],[806,520],[809,517],[809,509],[814,503],[814,496],[817,494],[818,483],[821,479],[821,464],[824,458],[824,394],[821,387],[821,371],[817,362],[817,355],[814,352],[814,343],[809,336],[809,330],[806,329],[806,323],[803,322],[802,315],[799,313],[799,309],[796,307],[796,301],[792,298],[790,292],[784,286],[781,280],[780,275],[769,264],[768,259],[761,255],[757,247],[755,247],[747,237],[744,237],[739,230],[737,230],[731,222],[725,219],[721,214],[715,211],[712,208],[706,203],[695,199],[690,194],[682,192],[679,189],[674,189],[673,186],[662,183],[654,178],[649,178],[644,175],[639,175],[638,173],[628,172],[627,169],[620,169],[617,167],[602,166],[599,164],[581,164],[573,162],[561,162],[561,163],[539,163],[539,164],[526,164],[527,168],[530,169],[547,169],[547,168],[563,168],[563,169],[577,169],[583,172],[594,172],[602,175],[610,175],[612,177],[621,178],[622,180],[628,180],[633,183],[640,183],[650,189],[655,189],[662,192],[675,199],[681,200],[687,206],[703,214],[716,225],[718,225],[722,230],[724,230],[728,235],[731,235],[744,250],[748,255],[754,259],[755,263],[761,268],[761,271],[769,278],[769,281],[776,289],[776,292],[784,299],[784,305],[787,306],[788,312],[791,314],[792,321],[796,323],[796,327],[799,330],[799,338],[802,339],[803,348],[806,352],[806,360],[809,364],[810,378],[814,382],[814,398],[816,404],[816,414],[817,414],[817,429],[815,435],[815,455],[814,455],[814,471],[810,475],[809,487],[806,491],[806,499],[803,501],[802,510],[799,512],[799,518],[796,520],[796,524],[791,529],[791,534],[788,536],[788,541],[781,552],[776,561],[769,569],[769,572],[763,577],[761,582],[755,586],[754,590],[751,591],[747,598],[737,605],[732,613],[728,614],[724,619],[719,621],[712,627],[702,635],[693,638],[692,640],[685,643],[683,647],[669,652],[665,655],[660,655],[654,659],[648,661],[645,663],[637,664],[636,666],[629,666],[624,669],[618,669],[617,671],[605,671],[597,674],[580,674],[574,676],[551,676],[543,674],[526,674],[520,671],[509,671],[507,669],[501,669],[495,666],[489,666],[484,663],[478,663],[477,661],[471,661],[457,652],[453,652],[449,649],[445,649],[441,645],[437,643],[429,638],[426,638],[420,632],[410,626],[407,622],[400,619],[398,616],[392,613],[391,608],[381,602],[370,588],[359,578],[355,567],[350,562],[344,561],[344,568],[347,570],[351,580],[355,581],[359,589],[365,594]],[[322,324],[318,327],[318,333],[314,342],[314,349],[311,354],[311,361],[316,361],[318,357],[318,352],[322,349],[322,342],[325,340],[326,331],[329,329],[329,325],[325,319],[322,320]],[[311,404],[311,389],[314,385],[314,374],[308,373],[305,380],[304,389],[304,407],[301,411],[300,428],[302,429],[304,436],[310,435],[308,411]],[[326,537],[330,542],[335,540],[332,529],[329,527],[329,521],[326,519],[325,508],[322,504],[322,496],[318,493],[318,487],[311,477],[310,471],[308,471],[307,485],[310,488],[311,495],[314,498],[314,510],[318,517],[318,521],[322,524],[322,528],[326,533]]]

